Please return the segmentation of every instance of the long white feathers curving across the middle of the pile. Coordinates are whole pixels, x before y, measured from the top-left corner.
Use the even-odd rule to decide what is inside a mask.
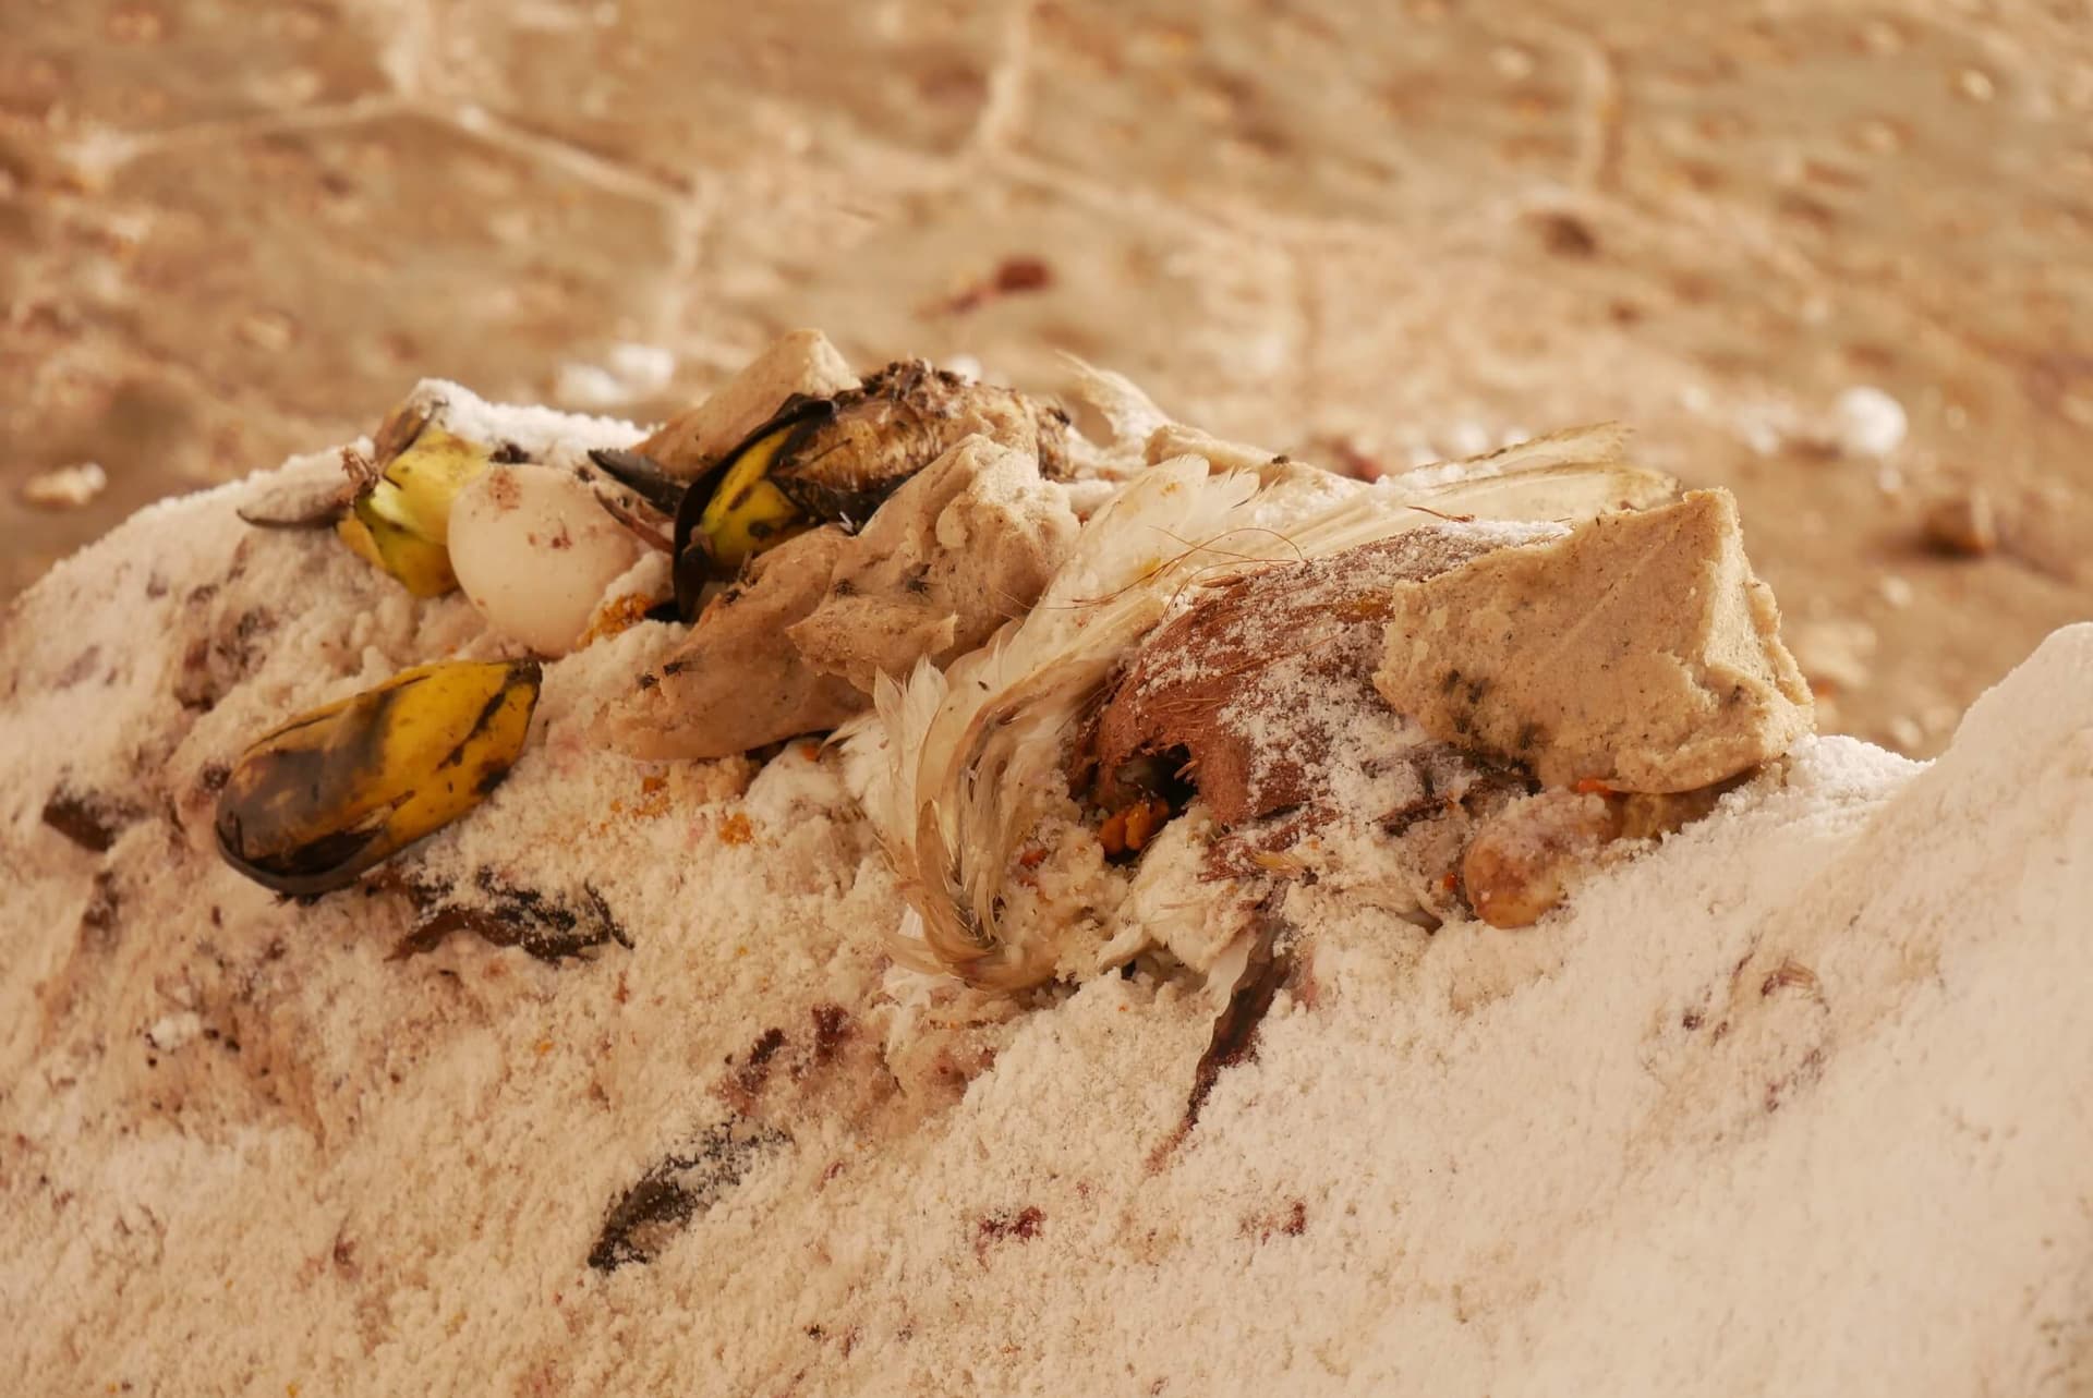
[[[839,735],[908,900],[890,938],[896,961],[986,990],[1055,975],[1074,919],[1011,919],[1005,883],[1042,818],[1067,808],[1070,745],[1122,661],[1203,588],[1448,517],[1574,521],[1674,490],[1622,465],[1610,427],[1371,486],[1283,465],[1216,469],[1212,456],[1222,452],[1134,473],[1026,617],[942,672],[881,678],[875,714]],[[1233,450],[1229,465],[1245,456]]]

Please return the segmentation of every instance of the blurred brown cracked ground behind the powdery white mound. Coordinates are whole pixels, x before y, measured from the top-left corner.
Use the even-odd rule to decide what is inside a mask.
[[[0,596],[421,375],[653,419],[814,324],[1360,473],[1626,421],[1913,753],[2093,615],[2093,4],[0,15]]]

